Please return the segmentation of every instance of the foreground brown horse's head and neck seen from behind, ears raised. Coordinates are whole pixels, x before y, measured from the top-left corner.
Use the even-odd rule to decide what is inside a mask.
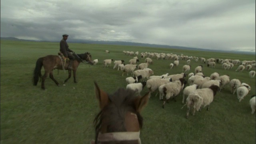
[[[107,94],[95,83],[100,112],[94,119],[95,141],[91,144],[140,144],[143,118],[140,112],[148,102],[150,92],[136,96],[134,90],[119,88]]]

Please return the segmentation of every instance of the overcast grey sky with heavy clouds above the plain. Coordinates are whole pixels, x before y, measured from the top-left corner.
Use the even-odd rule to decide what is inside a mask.
[[[255,52],[255,0],[1,0],[0,35]],[[68,42],[68,40],[67,40]]]

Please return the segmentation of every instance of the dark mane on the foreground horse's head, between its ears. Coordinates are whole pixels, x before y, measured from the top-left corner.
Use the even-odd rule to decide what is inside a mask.
[[[102,108],[94,119],[96,126],[95,142],[97,142],[98,133],[102,125],[102,120],[106,121],[107,132],[126,132],[125,113],[132,112],[137,115],[140,128],[143,125],[143,118],[139,112],[136,112],[134,100],[138,98],[133,90],[119,88],[114,94],[108,94],[109,104]]]

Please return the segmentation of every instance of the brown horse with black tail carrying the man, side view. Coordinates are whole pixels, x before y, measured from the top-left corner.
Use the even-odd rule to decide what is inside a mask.
[[[73,76],[74,76],[74,82],[76,83],[76,69],[78,68],[80,62],[83,62],[84,60],[87,61],[90,64],[93,64],[92,62],[92,56],[89,52],[86,52],[84,54],[74,54],[75,60],[73,61],[72,68],[73,68]],[[41,74],[42,66],[44,66],[44,76]],[[45,89],[44,81],[50,74],[50,78],[59,86],[59,83],[54,79],[53,77],[53,70],[68,70],[68,62],[63,61],[63,59],[60,56],[55,55],[48,55],[42,58],[38,58],[36,61],[36,68],[34,70],[34,76],[33,76],[33,84],[34,86],[37,85],[38,80],[42,79],[41,88]],[[67,82],[68,79],[71,77],[71,70],[68,70],[68,78],[64,81]]]

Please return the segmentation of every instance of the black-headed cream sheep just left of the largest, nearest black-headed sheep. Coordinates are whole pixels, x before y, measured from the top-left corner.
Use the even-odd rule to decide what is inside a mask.
[[[163,92],[164,92],[165,98],[164,98],[164,103],[163,103],[162,108],[164,108],[164,104],[165,104],[166,100],[168,100],[171,97],[174,97],[174,101],[176,102],[176,96],[182,90],[183,85],[184,85],[183,78],[180,78],[179,80],[176,80],[173,82],[169,82],[166,85],[164,85]]]

